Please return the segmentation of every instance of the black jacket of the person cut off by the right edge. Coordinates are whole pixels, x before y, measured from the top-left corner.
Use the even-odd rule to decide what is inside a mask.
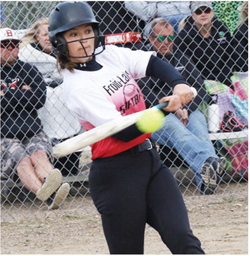
[[[248,20],[234,31],[235,71],[248,71]]]

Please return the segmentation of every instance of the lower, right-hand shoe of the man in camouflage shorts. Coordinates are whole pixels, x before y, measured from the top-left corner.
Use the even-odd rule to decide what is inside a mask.
[[[62,186],[47,200],[48,209],[55,210],[60,207],[60,204],[66,199],[69,194],[69,183],[63,183]]]

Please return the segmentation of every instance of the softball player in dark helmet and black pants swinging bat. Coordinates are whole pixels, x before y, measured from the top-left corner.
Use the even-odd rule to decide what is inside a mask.
[[[144,110],[135,82],[144,76],[173,87],[174,95],[160,100],[169,101],[166,114],[192,99],[183,77],[153,52],[105,47],[93,11],[84,2],[56,6],[49,17],[49,39],[62,69],[67,106],[86,131]],[[110,253],[142,254],[148,223],[172,253],[204,254],[174,176],[162,164],[150,134],[131,125],[91,147],[89,187]]]

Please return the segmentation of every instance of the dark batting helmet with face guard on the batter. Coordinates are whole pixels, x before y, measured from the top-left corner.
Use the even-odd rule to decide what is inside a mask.
[[[100,35],[99,22],[97,22],[91,7],[84,2],[64,2],[58,4],[49,15],[49,41],[57,54],[70,57],[67,42],[62,33],[82,24],[92,25],[95,32],[95,49],[100,44],[103,46],[103,50],[105,49],[105,37]],[[101,52],[95,53],[94,51],[92,55]]]

